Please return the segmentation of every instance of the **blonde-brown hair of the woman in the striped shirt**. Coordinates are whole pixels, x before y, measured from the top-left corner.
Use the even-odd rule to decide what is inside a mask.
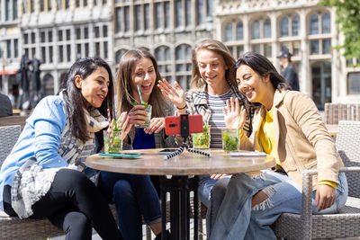
[[[199,66],[197,63],[197,53],[199,50],[210,50],[213,52],[216,52],[217,54],[220,54],[222,58],[224,58],[225,65],[228,67],[228,70],[226,70],[225,73],[225,79],[229,84],[232,84],[234,86],[237,86],[236,82],[236,76],[235,76],[235,59],[232,58],[229,49],[220,41],[220,40],[202,40],[198,46],[193,49],[193,58],[192,58],[192,64],[193,64],[193,74],[192,74],[192,81],[190,83],[191,88],[199,88],[202,87],[206,82],[202,79],[202,76],[200,75]]]

